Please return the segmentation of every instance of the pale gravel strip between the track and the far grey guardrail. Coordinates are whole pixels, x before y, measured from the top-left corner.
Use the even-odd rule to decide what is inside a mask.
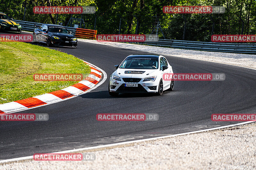
[[[220,53],[209,51],[196,51],[187,49],[164,48],[139,44],[129,44],[120,42],[99,42],[96,40],[78,39],[79,41],[97,43],[102,45],[110,45],[121,48],[130,48],[134,50],[147,51],[163,55],[172,55],[177,57],[185,57],[197,60],[232,64],[237,66],[245,66],[249,68],[256,68],[256,55],[251,54],[236,54],[236,53]]]

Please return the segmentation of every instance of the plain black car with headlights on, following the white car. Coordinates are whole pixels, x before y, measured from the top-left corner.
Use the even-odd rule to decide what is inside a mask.
[[[34,42],[47,43],[47,46],[77,46],[77,39],[64,26],[43,24],[33,32]]]

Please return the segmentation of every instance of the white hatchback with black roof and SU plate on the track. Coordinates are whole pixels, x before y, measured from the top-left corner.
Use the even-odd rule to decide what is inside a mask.
[[[108,85],[111,96],[127,92],[162,95],[165,90],[173,90],[173,77],[170,81],[163,80],[164,73],[173,73],[163,55],[129,55],[115,68]]]

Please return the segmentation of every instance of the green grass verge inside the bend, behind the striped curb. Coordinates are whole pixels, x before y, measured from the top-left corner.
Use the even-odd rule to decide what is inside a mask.
[[[0,104],[53,92],[77,81],[34,81],[35,73],[81,73],[90,67],[73,55],[24,42],[0,42]]]

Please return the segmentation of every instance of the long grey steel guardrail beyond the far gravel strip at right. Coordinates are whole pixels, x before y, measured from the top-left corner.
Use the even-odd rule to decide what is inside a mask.
[[[171,48],[200,50],[200,51],[256,54],[256,44],[235,44],[235,43],[181,41],[181,40],[164,40],[164,39],[159,39],[159,41],[157,42],[136,42],[136,44],[147,44],[147,45],[153,45],[153,46],[164,46],[164,47],[171,47]]]

